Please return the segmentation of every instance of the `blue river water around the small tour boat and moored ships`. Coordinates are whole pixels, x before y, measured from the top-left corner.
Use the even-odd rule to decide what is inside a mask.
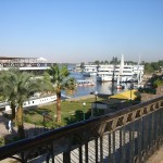
[[[87,96],[90,95],[90,92],[92,91],[98,91],[98,93],[103,95],[112,95],[112,90],[113,93],[118,93],[121,91],[128,90],[130,88],[130,84],[123,84],[125,86],[125,89],[123,90],[112,89],[113,85],[112,82],[99,83],[96,80],[96,76],[85,77],[83,76],[82,73],[78,72],[71,72],[71,76],[74,77],[75,79],[86,79],[92,80],[95,83],[95,86],[77,87],[77,91],[74,93],[73,97]],[[116,86],[116,83],[114,83],[114,85]]]

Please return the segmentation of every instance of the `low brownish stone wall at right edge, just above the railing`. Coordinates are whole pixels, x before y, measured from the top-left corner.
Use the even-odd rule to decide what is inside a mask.
[[[160,87],[156,88],[156,93],[155,95],[141,93],[141,102],[155,99],[155,98],[158,98],[160,96],[163,96],[163,86],[160,86]]]

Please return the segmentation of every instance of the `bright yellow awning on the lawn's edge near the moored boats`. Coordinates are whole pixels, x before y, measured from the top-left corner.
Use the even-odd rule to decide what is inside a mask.
[[[114,96],[109,97],[110,99],[121,99],[121,100],[135,100],[137,97],[140,96],[138,90],[131,89],[127,91],[123,91],[121,93],[116,93]]]

